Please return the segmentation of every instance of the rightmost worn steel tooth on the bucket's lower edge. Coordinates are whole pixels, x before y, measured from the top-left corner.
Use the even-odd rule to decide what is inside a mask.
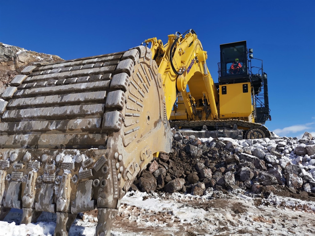
[[[117,209],[97,208],[97,225],[95,236],[110,236],[112,224],[118,213]]]

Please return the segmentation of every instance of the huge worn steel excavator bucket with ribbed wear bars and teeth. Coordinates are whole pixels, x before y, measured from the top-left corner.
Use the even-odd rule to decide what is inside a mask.
[[[68,235],[98,209],[110,235],[125,192],[157,152],[169,152],[162,76],[149,48],[26,67],[0,100],[0,220],[57,213]]]

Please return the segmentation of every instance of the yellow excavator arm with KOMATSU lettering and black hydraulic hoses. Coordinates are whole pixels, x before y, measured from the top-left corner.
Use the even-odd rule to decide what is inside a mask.
[[[207,52],[203,51],[201,42],[193,30],[183,37],[181,34],[169,35],[166,45],[157,38],[147,39],[151,42],[152,59],[157,62],[158,72],[162,75],[167,117],[170,118],[178,93],[181,93],[189,120],[196,115],[195,99],[206,98],[211,109],[211,120],[218,120],[218,92],[207,68]],[[188,91],[191,84],[193,94]]]

